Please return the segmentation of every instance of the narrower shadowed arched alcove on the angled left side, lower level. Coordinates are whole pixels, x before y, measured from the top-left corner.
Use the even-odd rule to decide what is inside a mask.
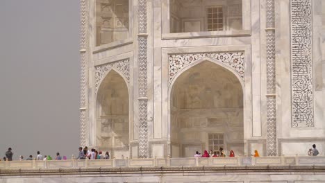
[[[111,70],[97,92],[97,147],[114,155],[128,155],[128,87],[119,73]]]

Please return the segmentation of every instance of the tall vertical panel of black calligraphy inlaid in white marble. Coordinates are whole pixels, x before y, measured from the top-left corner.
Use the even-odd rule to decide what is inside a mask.
[[[291,0],[292,128],[314,126],[312,0]]]

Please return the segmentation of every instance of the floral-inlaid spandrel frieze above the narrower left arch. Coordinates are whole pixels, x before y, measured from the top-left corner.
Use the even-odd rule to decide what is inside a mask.
[[[130,59],[126,58],[124,60],[118,60],[115,62],[109,62],[107,64],[102,64],[95,67],[95,90],[99,88],[101,84],[101,80],[107,75],[107,73],[111,69],[116,69],[117,71],[121,72],[123,76],[126,78],[127,82],[130,82]]]

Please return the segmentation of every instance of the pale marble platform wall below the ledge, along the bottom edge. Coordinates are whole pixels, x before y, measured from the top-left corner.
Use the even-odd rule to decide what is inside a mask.
[[[325,182],[323,173],[150,173],[150,174],[113,174],[107,175],[64,175],[64,176],[42,176],[42,177],[1,177],[1,183],[99,183],[99,182],[151,182],[151,183],[319,183]]]

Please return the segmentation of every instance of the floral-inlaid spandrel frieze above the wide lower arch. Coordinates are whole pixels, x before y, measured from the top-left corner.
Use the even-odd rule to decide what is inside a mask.
[[[238,73],[238,76],[244,81],[244,52],[226,52],[226,53],[182,53],[168,55],[169,77],[168,85],[172,83],[177,73],[185,69],[189,64],[210,58],[222,64],[226,64],[230,69]]]

